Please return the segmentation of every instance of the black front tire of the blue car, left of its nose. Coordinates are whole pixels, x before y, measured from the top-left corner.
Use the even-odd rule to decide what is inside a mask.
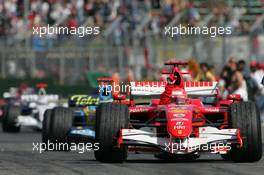
[[[71,109],[63,107],[53,109],[49,139],[53,143],[53,149],[49,147],[48,150],[68,151],[70,149],[67,136],[72,125],[73,115]]]

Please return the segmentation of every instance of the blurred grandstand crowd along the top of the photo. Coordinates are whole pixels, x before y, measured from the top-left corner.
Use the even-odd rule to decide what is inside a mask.
[[[181,23],[198,25],[202,20],[194,0],[27,0],[27,2],[28,4],[25,0],[0,0],[0,37],[12,36],[15,40],[13,42],[23,41],[27,36],[25,34],[33,26],[47,24],[106,28],[118,17],[122,17],[122,23],[129,24],[129,28],[134,30],[149,12],[152,12],[154,17],[148,27],[154,34],[161,32],[162,28],[181,12],[185,14]],[[158,4],[157,15],[155,10],[152,10],[153,4]],[[249,30],[251,24],[240,23],[238,20],[241,13],[239,8],[230,8],[223,1],[208,1],[201,3],[199,7],[207,9],[216,17],[213,23],[208,25],[216,25],[219,23],[218,19],[222,19],[218,17],[224,16],[232,27]]]

